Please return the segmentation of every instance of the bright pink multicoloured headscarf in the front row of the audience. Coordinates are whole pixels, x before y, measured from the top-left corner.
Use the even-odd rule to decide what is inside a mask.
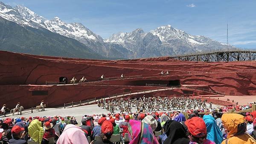
[[[159,144],[148,124],[135,120],[130,120],[129,123],[130,144]]]

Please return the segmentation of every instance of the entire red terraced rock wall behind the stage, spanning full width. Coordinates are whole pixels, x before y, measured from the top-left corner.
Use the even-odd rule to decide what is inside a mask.
[[[161,76],[161,71],[169,71],[169,75]],[[102,74],[106,79],[98,81]],[[125,78],[121,79],[121,74]],[[69,81],[75,77],[79,81],[83,76],[88,82],[46,85],[46,81],[58,82],[60,77]],[[256,61],[192,62],[168,57],[89,60],[0,51],[0,98],[1,104],[8,107],[15,107],[17,102],[24,108],[35,107],[41,100],[48,107],[56,107],[149,89],[162,90],[138,95],[256,95]]]

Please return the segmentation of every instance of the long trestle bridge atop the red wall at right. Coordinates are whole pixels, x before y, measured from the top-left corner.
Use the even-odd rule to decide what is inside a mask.
[[[179,55],[170,57],[185,61],[247,61],[256,60],[256,49],[229,49],[215,52],[202,52],[191,55]]]

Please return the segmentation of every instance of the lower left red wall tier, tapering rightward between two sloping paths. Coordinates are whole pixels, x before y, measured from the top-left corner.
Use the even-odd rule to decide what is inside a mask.
[[[122,92],[137,92],[144,89],[157,89],[146,86],[95,86],[95,85],[66,85],[66,86],[37,86],[37,85],[4,85],[0,86],[1,105],[13,108],[18,102],[25,109],[35,107],[44,100],[48,107],[63,106],[64,103],[84,101],[87,99],[107,97],[109,94]],[[48,91],[48,95],[32,95],[33,91]]]

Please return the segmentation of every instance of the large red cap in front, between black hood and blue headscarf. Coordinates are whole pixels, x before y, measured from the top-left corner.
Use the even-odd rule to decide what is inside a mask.
[[[189,132],[197,138],[204,137],[207,134],[206,125],[202,118],[193,117],[186,120],[185,124]]]

